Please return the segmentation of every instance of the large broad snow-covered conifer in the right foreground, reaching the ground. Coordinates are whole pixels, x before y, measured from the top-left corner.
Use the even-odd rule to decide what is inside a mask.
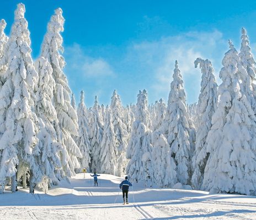
[[[207,136],[210,152],[202,189],[212,193],[255,195],[255,116],[241,81],[244,74],[238,52],[229,41],[230,50],[222,60],[218,87],[220,96]]]

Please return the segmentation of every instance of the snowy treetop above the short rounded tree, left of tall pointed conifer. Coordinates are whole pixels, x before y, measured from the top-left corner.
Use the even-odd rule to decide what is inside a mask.
[[[153,131],[157,130],[161,127],[164,117],[166,116],[166,103],[160,98],[159,101],[156,102],[156,108],[155,108],[155,114],[154,120],[152,122]]]

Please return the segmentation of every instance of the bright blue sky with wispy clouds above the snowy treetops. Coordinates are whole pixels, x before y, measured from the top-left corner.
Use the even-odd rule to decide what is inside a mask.
[[[0,17],[9,34],[20,1],[2,0]],[[231,39],[239,50],[246,27],[256,50],[256,1],[22,1],[29,23],[33,57],[38,57],[46,25],[54,9],[65,17],[66,68],[78,104],[81,89],[86,105],[94,96],[107,105],[116,89],[124,105],[136,102],[138,90],[150,103],[167,102],[175,59],[178,59],[189,103],[200,91],[197,57],[209,58],[218,73]]]

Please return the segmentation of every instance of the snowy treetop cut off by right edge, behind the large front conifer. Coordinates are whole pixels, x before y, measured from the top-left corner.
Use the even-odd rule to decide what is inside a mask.
[[[249,37],[247,36],[246,29],[242,28],[242,36],[241,36],[241,48],[239,57],[241,59],[242,65],[244,69],[246,69],[247,74],[243,74],[243,90],[245,95],[252,105],[252,109],[254,114],[256,114],[256,85],[255,85],[255,61],[253,58],[252,51],[249,45]]]

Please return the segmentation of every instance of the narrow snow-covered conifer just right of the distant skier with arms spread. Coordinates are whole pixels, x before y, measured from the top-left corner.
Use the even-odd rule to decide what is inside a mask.
[[[100,146],[100,172],[116,175],[116,170],[120,164],[117,163],[118,152],[111,114],[111,109],[107,106],[104,118],[103,139]]]

